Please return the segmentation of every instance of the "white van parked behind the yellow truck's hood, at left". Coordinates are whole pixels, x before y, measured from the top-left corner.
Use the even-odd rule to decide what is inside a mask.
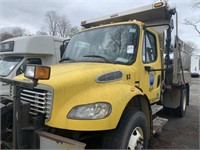
[[[26,64],[51,65],[58,63],[65,38],[25,36],[0,43],[0,76],[13,78],[22,74]],[[0,97],[8,96],[10,85],[0,82]]]

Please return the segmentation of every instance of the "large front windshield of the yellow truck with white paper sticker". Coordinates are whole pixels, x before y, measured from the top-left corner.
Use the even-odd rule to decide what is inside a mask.
[[[76,34],[70,40],[63,61],[132,64],[138,48],[139,27],[115,25]]]

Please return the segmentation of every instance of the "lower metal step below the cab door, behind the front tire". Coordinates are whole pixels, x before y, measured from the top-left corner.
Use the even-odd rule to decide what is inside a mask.
[[[168,119],[156,117],[153,119],[153,134],[159,133],[162,130],[162,127],[167,123]]]

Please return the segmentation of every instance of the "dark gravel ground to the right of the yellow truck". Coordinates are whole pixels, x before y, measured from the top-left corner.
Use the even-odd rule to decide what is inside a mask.
[[[178,118],[173,112],[161,114],[168,118],[160,135],[150,141],[150,149],[200,149],[200,78],[192,78],[190,87],[190,106],[184,118]]]

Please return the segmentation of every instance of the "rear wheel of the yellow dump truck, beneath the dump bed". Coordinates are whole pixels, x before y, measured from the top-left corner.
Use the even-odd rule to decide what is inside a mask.
[[[176,109],[176,114],[178,117],[184,117],[187,108],[187,90],[185,88],[181,88],[181,96],[180,96],[180,106]]]

